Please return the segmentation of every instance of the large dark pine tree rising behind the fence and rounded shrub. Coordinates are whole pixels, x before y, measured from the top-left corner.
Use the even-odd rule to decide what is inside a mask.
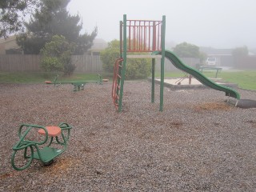
[[[80,34],[81,18],[78,14],[70,15],[66,6],[70,0],[42,0],[42,7],[36,10],[26,22],[27,32],[17,38],[24,54],[39,54],[46,42],[54,35],[62,35],[76,48],[74,54],[84,54],[92,45],[97,35],[97,27],[91,34]]]

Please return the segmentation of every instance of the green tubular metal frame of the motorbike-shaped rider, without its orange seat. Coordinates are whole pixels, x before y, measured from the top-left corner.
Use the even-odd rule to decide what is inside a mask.
[[[41,160],[44,164],[51,162],[54,158],[58,157],[58,155],[62,154],[67,148],[67,142],[70,138],[70,129],[72,126],[69,126],[66,122],[62,122],[58,125],[61,128],[61,138],[58,136],[49,137],[48,132],[45,126],[38,125],[30,125],[30,124],[22,124],[18,129],[18,138],[19,141],[13,146],[12,150],[14,150],[11,156],[11,165],[15,170],[25,170],[28,168],[33,161],[33,159]],[[42,141],[30,141],[26,139],[26,136],[33,129],[43,129],[46,132],[45,138]],[[55,138],[55,142],[54,142]],[[50,142],[47,144],[50,139]],[[57,146],[61,146],[59,149],[52,147],[52,144],[57,144]],[[43,146],[43,148],[42,148]],[[30,149],[30,154],[28,154],[28,148]],[[15,165],[15,155],[19,150],[24,150],[23,158],[28,159],[25,165],[16,166]]]

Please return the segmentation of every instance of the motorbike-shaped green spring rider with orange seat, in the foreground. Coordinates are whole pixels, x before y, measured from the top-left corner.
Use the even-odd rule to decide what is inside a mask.
[[[33,159],[41,160],[46,166],[50,165],[54,158],[66,150],[71,128],[72,126],[65,122],[60,123],[58,126],[22,124],[18,129],[19,141],[13,146],[14,152],[11,156],[11,165],[15,170],[25,170],[30,166]],[[42,138],[42,136],[44,137]],[[30,140],[31,138],[34,140]],[[22,162],[20,156],[23,156],[24,162],[22,162],[22,166],[17,166],[17,164],[20,165],[21,163],[15,161],[17,153],[20,153],[18,151],[23,152],[23,155],[20,154],[17,158],[17,161]]]

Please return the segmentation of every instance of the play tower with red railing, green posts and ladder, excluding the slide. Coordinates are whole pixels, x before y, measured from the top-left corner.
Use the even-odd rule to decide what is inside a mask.
[[[126,76],[127,58],[152,58],[152,87],[151,102],[154,102],[154,69],[155,58],[161,58],[161,85],[160,85],[160,111],[163,106],[163,82],[165,62],[165,31],[166,16],[162,21],[127,20],[126,14],[120,22],[120,58],[114,63],[114,77],[112,86],[112,98],[114,106],[120,112],[122,110],[122,94]],[[161,51],[161,55],[139,54]],[[129,54],[138,53],[138,55]]]

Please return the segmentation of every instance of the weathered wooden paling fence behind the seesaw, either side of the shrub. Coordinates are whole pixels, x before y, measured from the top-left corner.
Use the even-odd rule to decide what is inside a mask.
[[[0,54],[0,71],[40,71],[40,55]],[[102,61],[98,55],[74,55],[75,73],[101,73]]]

